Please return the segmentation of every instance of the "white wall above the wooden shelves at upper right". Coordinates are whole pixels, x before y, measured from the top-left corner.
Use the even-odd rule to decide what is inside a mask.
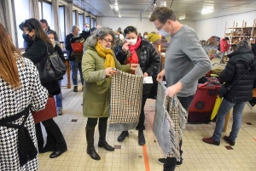
[[[247,26],[253,26],[253,20],[256,19],[256,11],[234,14],[224,17],[213,18],[209,20],[197,20],[195,21],[195,31],[200,40],[207,40],[212,36],[224,37],[225,25],[232,27],[235,21],[237,26],[242,25],[242,20],[247,22]],[[229,30],[230,32],[231,30]]]

